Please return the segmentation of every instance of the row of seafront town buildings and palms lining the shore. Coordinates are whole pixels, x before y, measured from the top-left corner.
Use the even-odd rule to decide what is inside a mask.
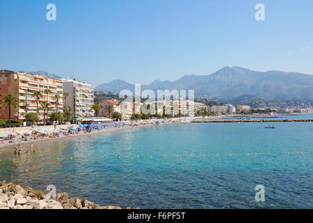
[[[39,123],[102,123],[113,120],[216,116],[223,114],[312,113],[312,106],[257,107],[209,104],[199,100],[126,102],[117,94],[99,93],[91,84],[76,79],[52,79],[39,74],[0,70],[0,118],[2,125]],[[106,95],[104,99],[104,95]],[[101,97],[102,96],[102,97]],[[111,98],[110,98],[111,96]],[[201,100],[200,100],[201,101]],[[153,107],[143,114],[143,107]],[[165,112],[165,110],[168,112]],[[155,111],[155,112],[154,112]]]

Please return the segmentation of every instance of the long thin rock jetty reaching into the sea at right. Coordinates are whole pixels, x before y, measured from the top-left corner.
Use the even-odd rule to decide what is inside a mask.
[[[311,122],[313,119],[232,119],[232,120],[195,120],[192,123],[291,123]]]

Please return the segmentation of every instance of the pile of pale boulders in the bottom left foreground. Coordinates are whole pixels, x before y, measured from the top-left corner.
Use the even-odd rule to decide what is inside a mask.
[[[69,199],[66,192],[56,194],[55,199],[41,190],[0,182],[0,209],[122,209],[118,206],[99,206],[86,199]],[[128,208],[130,209],[130,208]]]

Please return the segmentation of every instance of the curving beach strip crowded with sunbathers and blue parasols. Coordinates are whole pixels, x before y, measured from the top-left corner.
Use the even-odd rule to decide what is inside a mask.
[[[102,132],[104,130],[114,130],[120,128],[131,128],[141,125],[159,125],[163,123],[181,123],[189,122],[188,118],[167,118],[167,119],[150,119],[139,121],[114,121],[110,123],[91,123],[91,124],[77,124],[68,125],[65,128],[60,128],[58,125],[51,125],[51,128],[40,128],[40,126],[33,126],[28,129],[19,130],[19,128],[11,128],[8,131],[0,132],[1,146],[16,145],[19,147],[21,142],[31,142],[38,139],[54,139],[59,137],[70,137],[72,135],[83,135],[94,132]],[[46,126],[47,127],[47,126]],[[64,127],[62,125],[62,127]],[[22,153],[22,151],[15,151],[16,153]]]

